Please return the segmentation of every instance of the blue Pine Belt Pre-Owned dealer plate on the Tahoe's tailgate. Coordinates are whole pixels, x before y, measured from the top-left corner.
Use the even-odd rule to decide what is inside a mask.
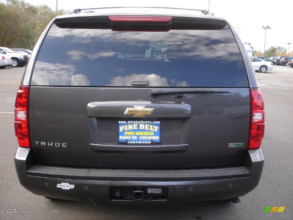
[[[161,142],[161,121],[118,121],[118,142],[148,145]]]

